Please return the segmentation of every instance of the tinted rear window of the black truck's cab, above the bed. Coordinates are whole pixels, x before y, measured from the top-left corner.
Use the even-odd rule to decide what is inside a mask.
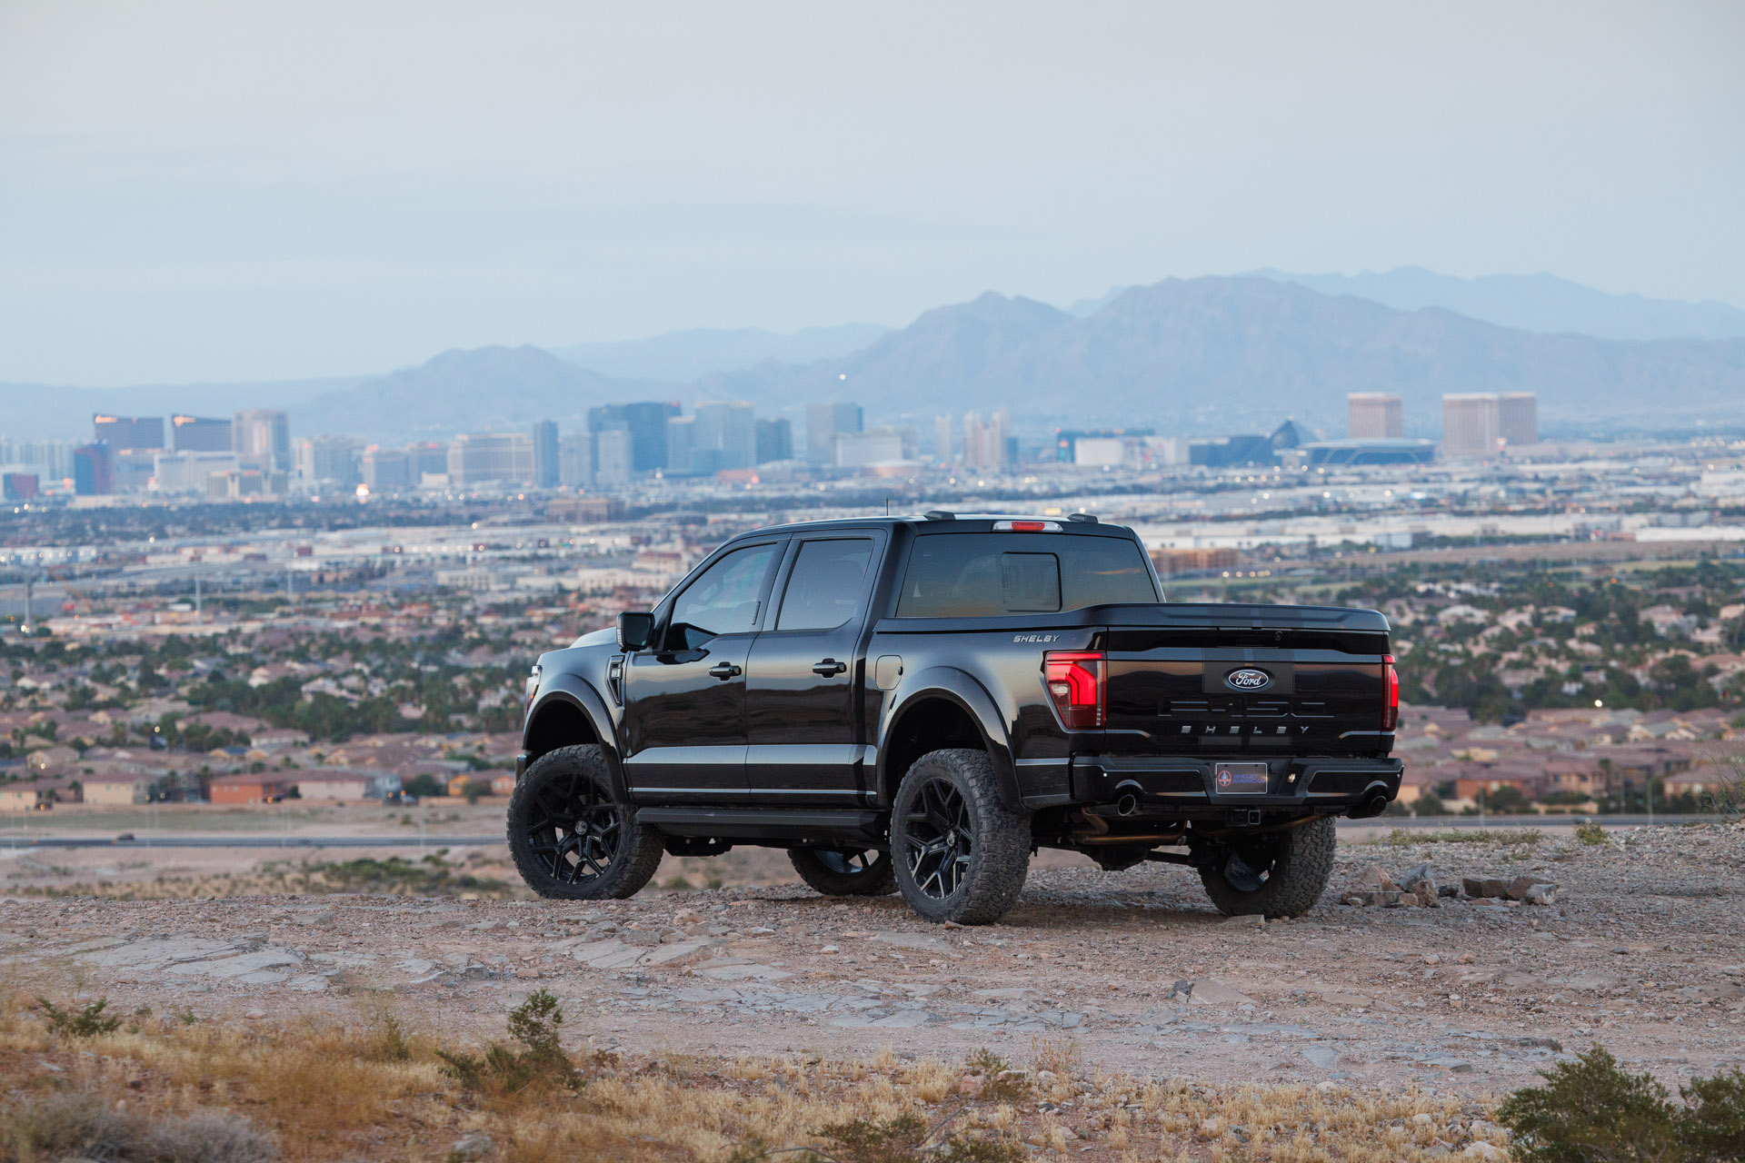
[[[1052,614],[1157,600],[1152,568],[1126,537],[927,534],[914,539],[897,617]]]

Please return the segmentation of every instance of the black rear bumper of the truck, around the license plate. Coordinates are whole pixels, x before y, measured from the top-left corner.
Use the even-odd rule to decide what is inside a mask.
[[[1218,760],[1159,755],[1082,755],[1073,758],[1073,802],[1124,807],[1126,814],[1223,818],[1232,811],[1265,816],[1379,814],[1399,795],[1398,758],[1242,758],[1265,762],[1265,792],[1220,792]],[[1269,811],[1270,809],[1270,811]]]

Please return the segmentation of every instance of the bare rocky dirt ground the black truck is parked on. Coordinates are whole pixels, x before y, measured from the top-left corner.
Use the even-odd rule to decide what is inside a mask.
[[[1185,868],[1042,867],[1059,860],[988,928],[759,877],[612,903],[12,896],[0,973],[124,1013],[391,1008],[454,1036],[501,1030],[544,987],[578,1044],[632,1055],[1026,1058],[1073,1039],[1087,1067],[1127,1074],[1464,1095],[1529,1085],[1593,1043],[1666,1079],[1745,1065],[1745,828],[1441,835],[1342,832],[1321,903],[1269,924],[1216,915]],[[1338,903],[1386,898],[1372,865],[1422,863],[1454,886],[1527,875],[1555,900]],[[684,863],[696,882],[705,868]]]

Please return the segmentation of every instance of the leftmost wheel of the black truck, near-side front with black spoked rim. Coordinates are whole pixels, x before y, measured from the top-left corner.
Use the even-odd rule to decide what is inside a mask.
[[[558,826],[565,813],[583,826]],[[635,896],[663,854],[661,833],[614,795],[597,745],[560,746],[536,758],[510,797],[506,830],[522,881],[557,900]]]

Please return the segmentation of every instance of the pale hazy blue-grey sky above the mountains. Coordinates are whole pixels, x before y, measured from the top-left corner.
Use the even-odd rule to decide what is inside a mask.
[[[1745,3],[0,0],[0,380],[1169,275],[1745,305]]]

